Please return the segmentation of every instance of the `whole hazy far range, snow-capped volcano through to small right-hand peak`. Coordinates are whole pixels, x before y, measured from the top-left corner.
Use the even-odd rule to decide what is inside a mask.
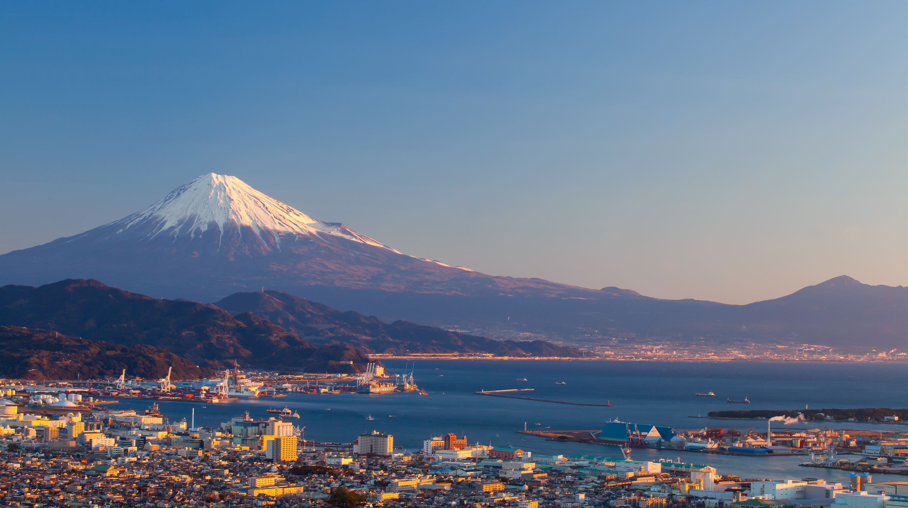
[[[387,322],[487,330],[482,335],[491,337],[908,347],[908,288],[839,277],[738,306],[494,277],[402,254],[213,173],[122,220],[0,256],[0,284],[63,278],[97,278],[154,297],[206,302],[265,287]]]

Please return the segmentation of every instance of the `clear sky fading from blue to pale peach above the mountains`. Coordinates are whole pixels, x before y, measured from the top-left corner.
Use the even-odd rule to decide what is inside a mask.
[[[240,177],[663,298],[908,284],[908,3],[5,2],[0,252]]]

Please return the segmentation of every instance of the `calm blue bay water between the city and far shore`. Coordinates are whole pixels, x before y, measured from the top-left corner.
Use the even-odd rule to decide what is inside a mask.
[[[400,372],[404,361],[385,362]],[[349,443],[356,435],[379,430],[394,435],[394,444],[415,450],[432,435],[453,432],[470,443],[515,445],[536,454],[599,454],[620,456],[617,447],[555,443],[520,435],[528,429],[598,429],[608,419],[675,428],[705,426],[765,428],[765,422],[692,418],[723,409],[800,409],[822,407],[908,407],[908,364],[845,363],[671,363],[537,360],[425,360],[416,364],[416,382],[429,396],[416,393],[384,395],[298,395],[242,399],[209,404],[161,402],[171,420],[191,417],[196,425],[219,425],[249,411],[265,418],[269,407],[288,405],[299,411],[306,439]],[[518,381],[526,377],[527,381]],[[564,381],[567,385],[556,385]],[[563,405],[478,396],[478,390],[535,388],[519,395],[606,404],[612,407]],[[697,392],[716,392],[698,397]],[[751,400],[729,405],[726,397]],[[123,400],[123,409],[143,409],[149,401]],[[368,415],[375,418],[366,419]],[[904,425],[826,424],[830,427],[902,429]],[[793,425],[804,426],[804,425]],[[846,482],[848,473],[798,466],[803,456],[737,457],[691,452],[634,450],[635,459],[681,458],[716,466],[720,474],[747,478],[826,478]],[[904,476],[876,475],[904,480]]]

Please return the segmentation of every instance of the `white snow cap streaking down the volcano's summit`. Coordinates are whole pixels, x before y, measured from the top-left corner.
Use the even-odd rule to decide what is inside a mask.
[[[223,234],[230,227],[249,227],[262,239],[262,231],[275,235],[328,234],[382,249],[397,250],[370,239],[340,222],[324,222],[290,205],[252,189],[235,176],[204,174],[173,190],[163,200],[110,224],[116,234],[136,228],[145,238],[158,235],[190,238],[216,227]],[[400,252],[398,252],[400,254]]]

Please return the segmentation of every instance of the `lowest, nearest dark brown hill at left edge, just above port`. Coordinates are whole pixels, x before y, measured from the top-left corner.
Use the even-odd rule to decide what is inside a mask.
[[[200,368],[160,347],[89,342],[49,330],[0,327],[0,376],[16,379],[86,379],[119,376],[199,379],[214,371]]]

